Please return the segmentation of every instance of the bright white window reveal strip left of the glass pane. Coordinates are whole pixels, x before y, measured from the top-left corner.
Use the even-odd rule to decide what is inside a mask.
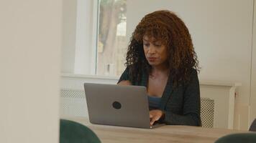
[[[96,39],[93,38],[93,36],[96,36],[93,35],[93,27],[97,25],[93,26],[93,18],[97,19],[97,16],[93,16],[93,0],[78,0],[75,74],[92,74],[96,63],[96,60],[93,59],[96,49],[91,48],[96,47],[93,45],[93,40],[96,42]]]

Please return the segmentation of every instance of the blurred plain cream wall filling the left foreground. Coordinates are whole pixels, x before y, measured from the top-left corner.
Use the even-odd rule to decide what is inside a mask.
[[[62,1],[0,1],[0,142],[58,142]]]

